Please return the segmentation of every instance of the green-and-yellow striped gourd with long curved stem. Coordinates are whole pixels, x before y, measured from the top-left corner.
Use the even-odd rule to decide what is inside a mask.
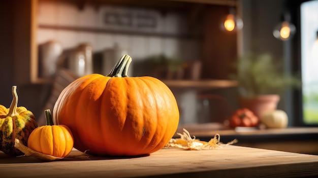
[[[35,116],[24,106],[17,106],[17,86],[12,87],[13,99],[10,108],[0,105],[0,150],[12,156],[23,155],[14,148],[14,140],[19,139],[27,145],[30,133],[38,127]]]

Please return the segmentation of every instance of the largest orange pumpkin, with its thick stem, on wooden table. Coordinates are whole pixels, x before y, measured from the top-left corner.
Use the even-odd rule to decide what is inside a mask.
[[[67,86],[53,118],[67,125],[74,147],[92,155],[137,156],[163,148],[179,122],[171,90],[153,77],[128,77],[124,55],[108,76],[91,74]]]

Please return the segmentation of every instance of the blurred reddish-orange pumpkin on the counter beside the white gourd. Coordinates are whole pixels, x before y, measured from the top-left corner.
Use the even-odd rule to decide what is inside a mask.
[[[231,127],[255,127],[259,123],[259,118],[249,109],[236,110],[230,119]]]

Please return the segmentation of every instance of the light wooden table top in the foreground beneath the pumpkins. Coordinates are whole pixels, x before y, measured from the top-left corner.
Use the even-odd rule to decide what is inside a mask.
[[[164,148],[135,158],[83,157],[58,161],[0,152],[0,177],[301,177],[318,176],[318,156],[227,146],[186,151]]]

